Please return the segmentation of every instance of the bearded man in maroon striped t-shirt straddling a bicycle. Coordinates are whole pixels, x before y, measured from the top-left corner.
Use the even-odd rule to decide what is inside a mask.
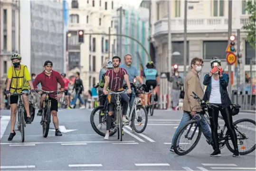
[[[105,84],[103,88],[103,93],[108,94],[108,91],[106,91],[106,88],[108,87],[110,91],[122,91],[123,90],[123,80],[125,80],[128,90],[127,93],[132,93],[131,85],[129,82],[129,77],[127,74],[127,71],[124,68],[119,68],[119,65],[121,63],[121,59],[118,56],[114,56],[112,58],[113,67],[112,69],[108,69],[106,71],[105,75]],[[129,120],[125,118],[129,106],[129,97],[127,94],[120,94],[121,95],[121,103],[123,104],[123,123],[124,125],[129,124]],[[107,98],[108,101],[108,115],[106,120],[106,135],[104,139],[109,138],[109,131],[111,128],[111,122],[112,122],[112,115],[114,112],[114,103],[116,102],[115,98],[111,96],[110,101]]]

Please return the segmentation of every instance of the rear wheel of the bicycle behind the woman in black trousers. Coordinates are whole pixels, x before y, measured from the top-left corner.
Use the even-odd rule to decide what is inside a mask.
[[[248,128],[243,127],[243,125],[245,125],[246,122],[250,124]],[[255,120],[250,120],[250,119],[236,120],[234,122],[234,127],[237,133],[237,144],[238,144],[239,154],[246,155],[246,154],[252,153],[255,150]],[[248,130],[248,132],[245,133],[246,132],[245,130]],[[227,134],[228,134],[228,130],[226,132],[226,135]],[[251,141],[253,144],[251,148],[246,146],[249,144],[249,141]],[[226,145],[228,147],[228,150],[234,153],[234,146],[233,144],[232,146],[230,144],[232,144],[232,141],[228,136],[228,139],[226,140]]]

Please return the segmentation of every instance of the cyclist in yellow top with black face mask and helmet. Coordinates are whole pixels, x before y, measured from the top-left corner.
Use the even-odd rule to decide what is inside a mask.
[[[11,93],[21,93],[21,92],[28,92],[29,86],[31,89],[31,93],[34,94],[35,90],[31,81],[30,74],[28,72],[28,68],[25,65],[21,65],[21,56],[18,53],[14,53],[11,56],[11,59],[13,66],[11,66],[8,69],[7,73],[7,87],[6,87],[6,94],[10,96],[10,109],[11,109],[11,115],[10,115],[10,135],[8,138],[8,141],[11,141],[12,138],[16,135],[14,131],[14,126],[16,122],[16,113],[18,108],[18,101],[19,96],[17,95],[11,95]],[[27,95],[22,95],[24,108],[27,112],[27,124],[31,124],[31,118],[29,114],[29,103]]]

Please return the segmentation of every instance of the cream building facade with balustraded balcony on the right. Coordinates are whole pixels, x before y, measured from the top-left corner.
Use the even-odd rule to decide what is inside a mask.
[[[193,2],[193,3],[192,3]],[[243,54],[240,65],[241,83],[250,68],[250,59],[255,59],[255,50],[246,42],[247,35],[242,26],[248,19],[244,0],[232,4],[232,34],[237,35],[240,29],[240,51]],[[226,47],[228,45],[228,1],[227,0],[197,0],[188,2],[187,20],[187,70],[193,57],[205,60],[205,67],[200,75],[201,80],[209,72],[209,60],[217,56],[224,69],[228,71],[226,62]],[[167,72],[168,66],[168,1],[151,1],[151,38],[156,49],[157,68]],[[180,75],[183,75],[183,41],[184,41],[184,1],[171,0],[171,41],[172,52],[180,52],[179,56],[172,55],[172,64],[179,65]],[[252,66],[255,77],[255,65]],[[232,66],[232,71],[235,71]],[[231,76],[233,85],[236,84],[235,73]],[[167,94],[167,84],[161,85],[161,94]]]

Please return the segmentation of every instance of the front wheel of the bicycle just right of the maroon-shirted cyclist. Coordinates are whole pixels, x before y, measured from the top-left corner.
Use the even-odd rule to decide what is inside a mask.
[[[142,123],[142,114],[140,113],[139,115],[137,114],[136,115],[136,112],[137,111],[135,111],[135,109],[133,110],[133,117],[132,117],[132,126],[133,126],[133,129],[134,129],[134,131],[135,132],[137,132],[137,133],[142,133],[145,129],[146,129],[146,127],[147,127],[147,124],[148,124],[148,114],[147,114],[147,110],[145,109],[145,107],[144,106],[142,106],[142,105],[137,105],[136,106],[136,108],[137,108],[137,111],[138,110],[142,110],[144,113],[145,113],[145,123],[143,124]],[[135,121],[136,122],[138,122],[138,123],[136,123],[135,124]],[[143,124],[143,127],[142,127],[142,129],[141,130],[139,130],[139,129],[137,129],[137,127],[136,126],[141,126]]]

